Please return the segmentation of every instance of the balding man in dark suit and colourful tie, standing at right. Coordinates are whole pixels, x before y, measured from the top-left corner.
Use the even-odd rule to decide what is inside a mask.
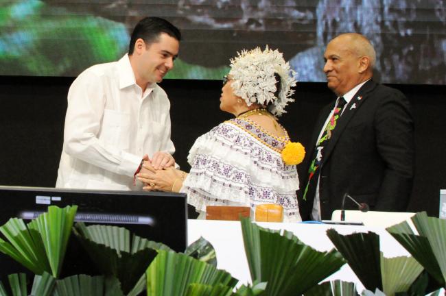
[[[414,171],[408,99],[373,81],[375,50],[361,34],[333,38],[324,58],[328,87],[338,98],[316,123],[299,194],[301,217],[331,219],[345,193],[371,210],[406,210]],[[357,210],[349,199],[345,208]]]

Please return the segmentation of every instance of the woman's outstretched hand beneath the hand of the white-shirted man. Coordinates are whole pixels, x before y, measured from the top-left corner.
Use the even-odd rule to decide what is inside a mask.
[[[167,169],[155,170],[152,167],[145,167],[148,171],[137,174],[138,180],[145,183],[143,190],[161,190],[172,192],[174,183],[183,182],[185,172],[169,167]]]

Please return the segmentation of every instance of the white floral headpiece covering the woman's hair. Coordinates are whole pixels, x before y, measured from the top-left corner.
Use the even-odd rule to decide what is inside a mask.
[[[246,101],[248,106],[253,103],[268,105],[272,114],[280,116],[285,113],[285,106],[290,101],[296,86],[296,73],[285,62],[282,53],[266,46],[264,51],[259,47],[250,51],[243,50],[238,56],[231,59],[229,75],[233,79],[231,84],[235,95]],[[279,95],[276,93],[276,78],[274,73],[281,77]]]

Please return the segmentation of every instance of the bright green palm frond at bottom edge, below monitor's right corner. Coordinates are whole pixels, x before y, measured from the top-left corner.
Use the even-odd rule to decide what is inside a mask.
[[[237,284],[229,273],[211,264],[174,251],[159,250],[145,272],[148,296],[185,295],[189,284],[222,284],[233,288]]]

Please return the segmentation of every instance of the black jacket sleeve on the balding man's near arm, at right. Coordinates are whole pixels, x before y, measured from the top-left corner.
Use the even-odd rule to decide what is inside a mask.
[[[414,124],[410,103],[398,90],[382,98],[375,130],[377,149],[386,167],[375,210],[404,211],[414,175]]]

